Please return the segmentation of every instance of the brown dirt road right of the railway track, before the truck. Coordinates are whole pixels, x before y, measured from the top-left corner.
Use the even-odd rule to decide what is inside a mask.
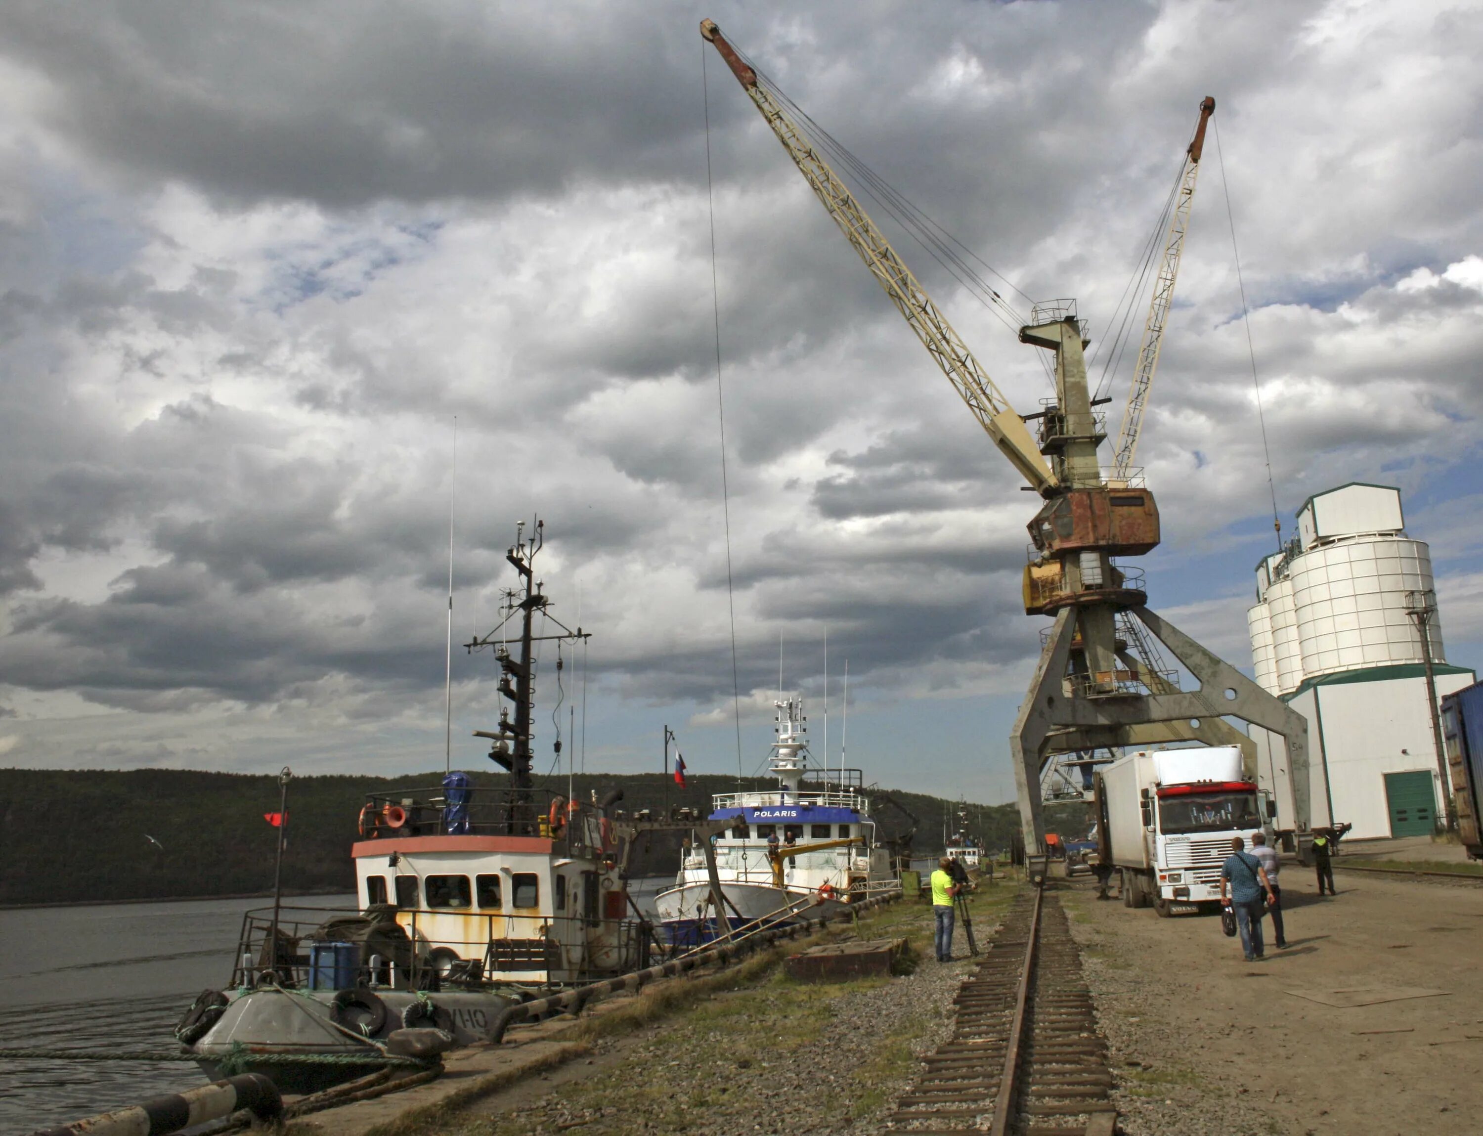
[[[1262,962],[1215,917],[1071,885],[1123,1129],[1483,1132],[1483,885],[1344,872],[1320,899],[1296,865],[1281,882],[1289,948],[1268,922]]]

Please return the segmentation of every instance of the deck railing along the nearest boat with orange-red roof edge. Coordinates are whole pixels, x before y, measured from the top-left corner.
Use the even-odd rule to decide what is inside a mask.
[[[555,971],[575,982],[599,980],[650,965],[664,946],[647,919],[543,915],[535,934],[512,937],[501,912],[460,915],[466,940],[445,937],[449,912],[372,908],[257,908],[242,917],[231,986],[341,989],[356,985],[436,991],[485,986]],[[522,919],[523,922],[523,919]],[[604,928],[605,924],[605,928]],[[598,928],[602,933],[595,934]],[[335,958],[331,943],[349,943]],[[316,951],[316,946],[322,946]]]

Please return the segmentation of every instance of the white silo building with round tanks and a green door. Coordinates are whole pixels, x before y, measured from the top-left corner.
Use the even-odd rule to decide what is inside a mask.
[[[1308,719],[1311,825],[1348,822],[1350,839],[1433,832],[1447,786],[1422,639],[1439,699],[1474,673],[1447,664],[1431,552],[1406,535],[1400,489],[1355,482],[1309,497],[1298,535],[1256,565],[1247,629],[1256,681]],[[1272,746],[1265,731],[1252,734],[1281,825],[1292,817],[1281,739]]]

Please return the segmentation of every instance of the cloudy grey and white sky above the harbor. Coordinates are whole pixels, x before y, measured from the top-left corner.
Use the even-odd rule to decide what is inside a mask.
[[[664,724],[691,770],[737,768],[701,16],[1025,295],[1075,297],[1094,347],[1215,95],[1139,454],[1152,602],[1249,666],[1274,538],[1223,156],[1283,524],[1400,485],[1449,658],[1483,663],[1476,1],[22,0],[0,762],[440,765],[455,494],[460,639],[512,583],[516,521],[546,519],[553,612],[595,635],[589,768],[657,767]],[[704,67],[742,764],[780,638],[814,697],[828,630],[833,761],[848,660],[850,764],[1007,799],[1046,623],[1017,605],[1034,498]],[[1035,349],[900,249],[1035,409]],[[581,701],[552,661],[540,768]],[[454,657],[455,765],[486,764],[492,673]]]

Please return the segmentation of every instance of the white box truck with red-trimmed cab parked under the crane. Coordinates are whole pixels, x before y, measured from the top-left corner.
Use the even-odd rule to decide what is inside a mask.
[[[1235,746],[1139,750],[1096,774],[1097,853],[1123,875],[1123,903],[1163,917],[1221,902],[1231,838],[1272,841],[1272,802]]]

